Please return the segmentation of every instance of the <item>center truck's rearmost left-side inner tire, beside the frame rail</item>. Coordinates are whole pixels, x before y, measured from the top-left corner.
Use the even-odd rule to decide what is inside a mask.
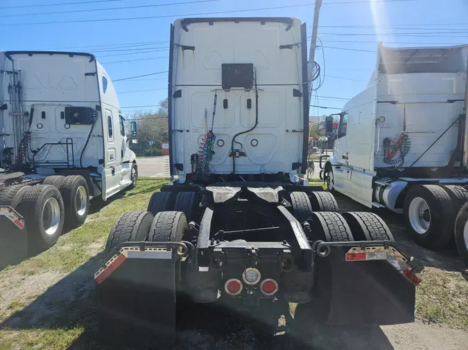
[[[151,224],[150,242],[180,242],[189,229],[183,212],[159,212]]]

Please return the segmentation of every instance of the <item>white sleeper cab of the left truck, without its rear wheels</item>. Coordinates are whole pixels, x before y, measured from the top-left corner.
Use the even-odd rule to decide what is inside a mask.
[[[0,167],[31,178],[80,174],[105,200],[135,183],[112,80],[89,53],[0,54]]]

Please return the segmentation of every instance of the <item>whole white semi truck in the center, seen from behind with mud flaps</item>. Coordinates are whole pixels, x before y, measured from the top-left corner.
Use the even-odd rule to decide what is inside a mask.
[[[177,180],[153,194],[147,211],[121,214],[110,231],[95,274],[101,335],[163,347],[175,339],[183,300],[275,326],[275,311],[286,315],[288,302],[300,304],[301,328],[311,317],[413,322],[415,261],[379,217],[338,213],[333,195],[302,175],[311,80],[306,24],[186,18],[171,25],[170,40]]]

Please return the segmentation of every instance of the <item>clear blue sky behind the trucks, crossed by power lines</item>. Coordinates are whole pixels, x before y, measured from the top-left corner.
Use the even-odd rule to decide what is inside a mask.
[[[90,2],[76,3],[85,1]],[[2,0],[0,2],[2,12],[0,27],[3,27],[1,50],[92,52],[96,54],[112,80],[118,80],[167,70],[169,25],[179,17],[283,16],[297,17],[302,22],[307,22],[309,26],[313,20],[312,1],[202,1],[204,0],[96,0],[94,2],[92,0]],[[347,1],[350,3],[343,3]],[[58,3],[74,4],[56,6]],[[110,9],[171,3],[178,4]],[[53,6],[38,6],[49,4]],[[309,6],[306,6],[307,4]],[[285,8],[296,5],[304,6]],[[8,8],[12,6],[24,7]],[[283,8],[253,10],[275,7]],[[103,8],[107,10],[97,10]],[[49,13],[78,10],[93,11]],[[250,11],[229,12],[233,10]],[[41,12],[48,14],[37,15]],[[209,12],[225,13],[208,15]],[[26,14],[35,15],[25,16]],[[156,16],[159,18],[110,20]],[[44,24],[56,21],[62,23]],[[85,22],[73,23],[73,21]],[[310,35],[311,28],[308,29],[308,33]],[[325,65],[325,81],[317,93],[313,94],[311,104],[340,108],[346,100],[338,98],[351,98],[365,89],[374,68],[376,59],[374,51],[379,38],[389,46],[468,43],[468,0],[323,0],[319,37],[324,48],[317,51],[315,60],[322,69]],[[132,62],[132,59],[138,60]],[[121,107],[158,104],[160,100],[166,98],[166,82],[166,73],[115,82]],[[133,110],[134,108],[123,108],[127,113]],[[311,108],[310,115],[333,112],[336,110]]]

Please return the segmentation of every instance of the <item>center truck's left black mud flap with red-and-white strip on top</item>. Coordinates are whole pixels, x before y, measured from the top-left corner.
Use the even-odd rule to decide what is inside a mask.
[[[175,250],[122,248],[95,275],[101,339],[160,349],[175,343]]]

